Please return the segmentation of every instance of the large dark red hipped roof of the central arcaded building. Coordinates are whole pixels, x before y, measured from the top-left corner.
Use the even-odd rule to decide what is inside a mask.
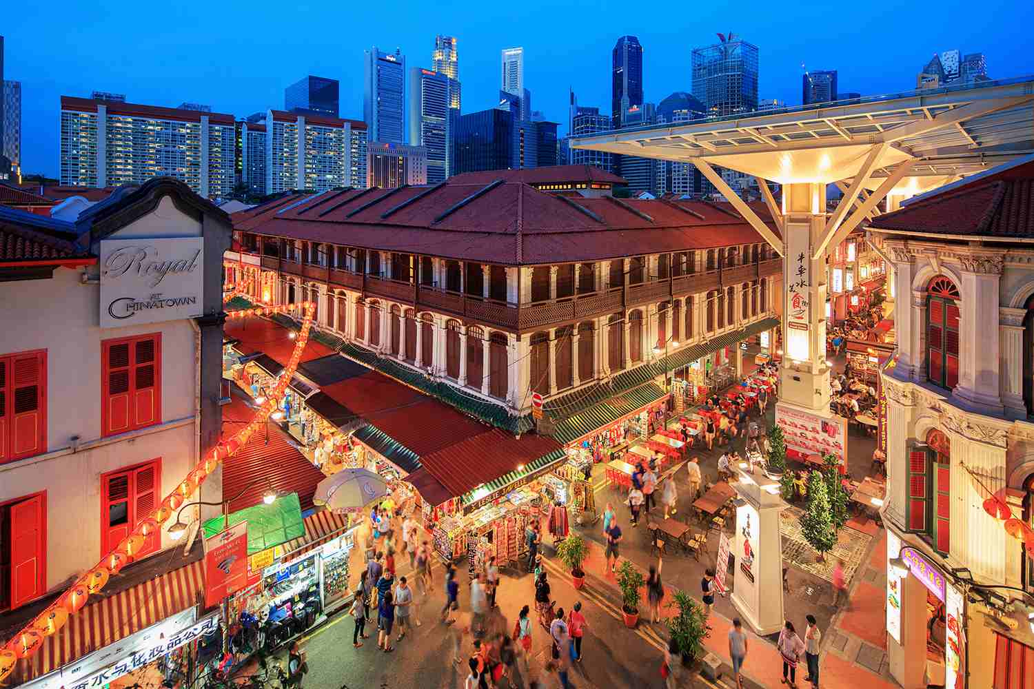
[[[725,203],[566,199],[519,182],[489,188],[456,179],[433,190],[344,192],[311,213],[306,209],[320,201],[278,201],[278,208],[271,203],[265,212],[252,209],[235,214],[234,227],[272,237],[510,265],[763,241]],[[767,210],[761,217],[770,220]],[[774,223],[769,226],[778,233]]]

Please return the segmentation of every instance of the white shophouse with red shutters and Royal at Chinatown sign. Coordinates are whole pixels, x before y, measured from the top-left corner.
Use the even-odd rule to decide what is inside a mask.
[[[0,208],[0,639],[90,571],[217,441],[230,242],[229,216],[169,178],[120,187],[75,223]],[[217,470],[191,500],[218,503],[220,483]],[[164,531],[148,536],[8,681],[192,615],[201,546],[173,544]]]

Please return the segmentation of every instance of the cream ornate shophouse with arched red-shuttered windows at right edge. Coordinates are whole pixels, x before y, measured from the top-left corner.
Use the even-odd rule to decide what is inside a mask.
[[[887,571],[890,670],[904,687],[1011,689],[1034,666],[1032,190],[1026,158],[870,227],[898,293],[896,362],[881,376],[883,510],[888,558],[911,572]]]

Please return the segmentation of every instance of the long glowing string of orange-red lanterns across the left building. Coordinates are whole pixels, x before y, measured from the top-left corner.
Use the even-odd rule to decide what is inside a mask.
[[[231,292],[226,301],[236,294]],[[283,398],[298,364],[301,361],[302,351],[309,339],[309,331],[312,325],[312,316],[315,312],[315,304],[303,302],[296,305],[284,306],[263,306],[239,311],[229,312],[229,317],[261,316],[274,313],[284,313],[293,309],[301,308],[304,312],[302,327],[298,333],[298,340],[295,349],[291,354],[291,361],[284,367],[284,375],[280,376],[276,386],[267,396],[266,401],[260,406],[251,420],[230,437],[227,440],[220,440],[219,443],[208,453],[208,457],[199,462],[180,481],[179,486],[165,496],[161,504],[144,519],[136,528],[109,552],[100,561],[81,576],[67,591],[58,596],[42,613],[37,615],[13,637],[0,647],[0,681],[3,681],[14,670],[14,664],[23,659],[32,656],[42,646],[43,639],[56,634],[67,622],[68,617],[74,615],[86,605],[91,594],[98,593],[112,576],[118,574],[129,560],[141,551],[149,535],[161,529],[161,526],[180,508],[184,501],[189,498],[194,491],[205,481],[205,479],[215,471],[219,464],[226,458],[233,457],[244,446],[248,438],[266,422],[267,417],[279,406]]]

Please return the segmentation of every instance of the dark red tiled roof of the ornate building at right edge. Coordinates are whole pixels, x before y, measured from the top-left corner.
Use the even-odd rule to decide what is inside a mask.
[[[1034,238],[1034,162],[983,176],[878,216],[871,229]]]

